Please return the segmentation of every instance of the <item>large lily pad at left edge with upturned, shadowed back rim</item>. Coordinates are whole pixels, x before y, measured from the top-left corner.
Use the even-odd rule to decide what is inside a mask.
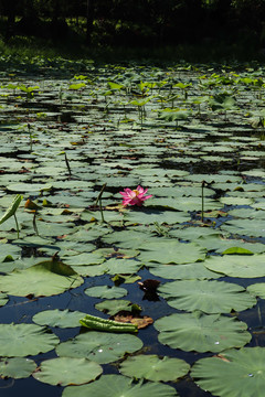
[[[42,261],[28,269],[0,276],[0,289],[17,297],[53,296],[83,282],[83,278],[71,267],[55,260]]]

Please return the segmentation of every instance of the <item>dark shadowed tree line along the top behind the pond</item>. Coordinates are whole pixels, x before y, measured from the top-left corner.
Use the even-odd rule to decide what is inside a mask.
[[[0,0],[0,35],[86,44],[247,40],[265,45],[265,0]]]

